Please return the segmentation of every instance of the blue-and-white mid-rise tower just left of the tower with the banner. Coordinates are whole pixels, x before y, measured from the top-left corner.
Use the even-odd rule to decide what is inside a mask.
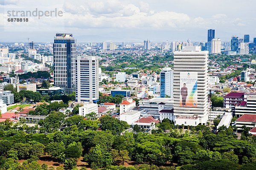
[[[173,99],[173,70],[169,67],[160,72],[160,97],[166,96]]]

